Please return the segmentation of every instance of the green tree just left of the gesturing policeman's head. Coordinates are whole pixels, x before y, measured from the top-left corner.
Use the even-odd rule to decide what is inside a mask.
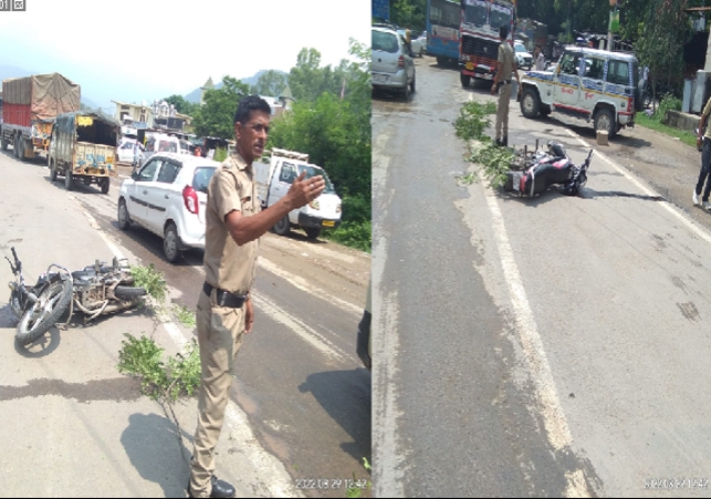
[[[205,91],[205,104],[192,116],[192,127],[199,136],[234,137],[234,111],[249,94],[249,85],[232,76],[222,79],[222,87]]]

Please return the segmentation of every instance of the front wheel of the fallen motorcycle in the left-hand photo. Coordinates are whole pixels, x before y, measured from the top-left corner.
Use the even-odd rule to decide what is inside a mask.
[[[14,337],[22,345],[36,341],[54,325],[71,301],[72,282],[69,279],[52,282],[20,318]]]

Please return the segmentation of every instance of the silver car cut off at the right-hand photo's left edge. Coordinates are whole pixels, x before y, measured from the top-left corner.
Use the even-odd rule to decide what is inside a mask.
[[[373,27],[370,83],[374,89],[401,90],[405,100],[415,92],[415,61],[405,39],[385,25]]]

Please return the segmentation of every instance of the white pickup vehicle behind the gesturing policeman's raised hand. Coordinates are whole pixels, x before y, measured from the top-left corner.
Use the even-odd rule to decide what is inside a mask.
[[[272,228],[273,232],[285,236],[292,226],[297,226],[304,229],[309,238],[315,239],[322,229],[336,229],[341,225],[341,198],[323,168],[309,163],[307,154],[272,149],[269,163],[254,162],[252,166],[262,208],[269,208],[283,198],[302,171],[306,171],[305,178],[321,175],[326,181],[326,188],[321,196],[285,215]]]

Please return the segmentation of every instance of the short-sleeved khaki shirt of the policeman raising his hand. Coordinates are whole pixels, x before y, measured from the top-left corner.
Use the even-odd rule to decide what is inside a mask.
[[[212,175],[208,186],[205,229],[205,279],[215,288],[245,294],[257,271],[259,239],[238,246],[227,230],[224,217],[232,210],[250,217],[260,211],[254,169],[233,153]]]

